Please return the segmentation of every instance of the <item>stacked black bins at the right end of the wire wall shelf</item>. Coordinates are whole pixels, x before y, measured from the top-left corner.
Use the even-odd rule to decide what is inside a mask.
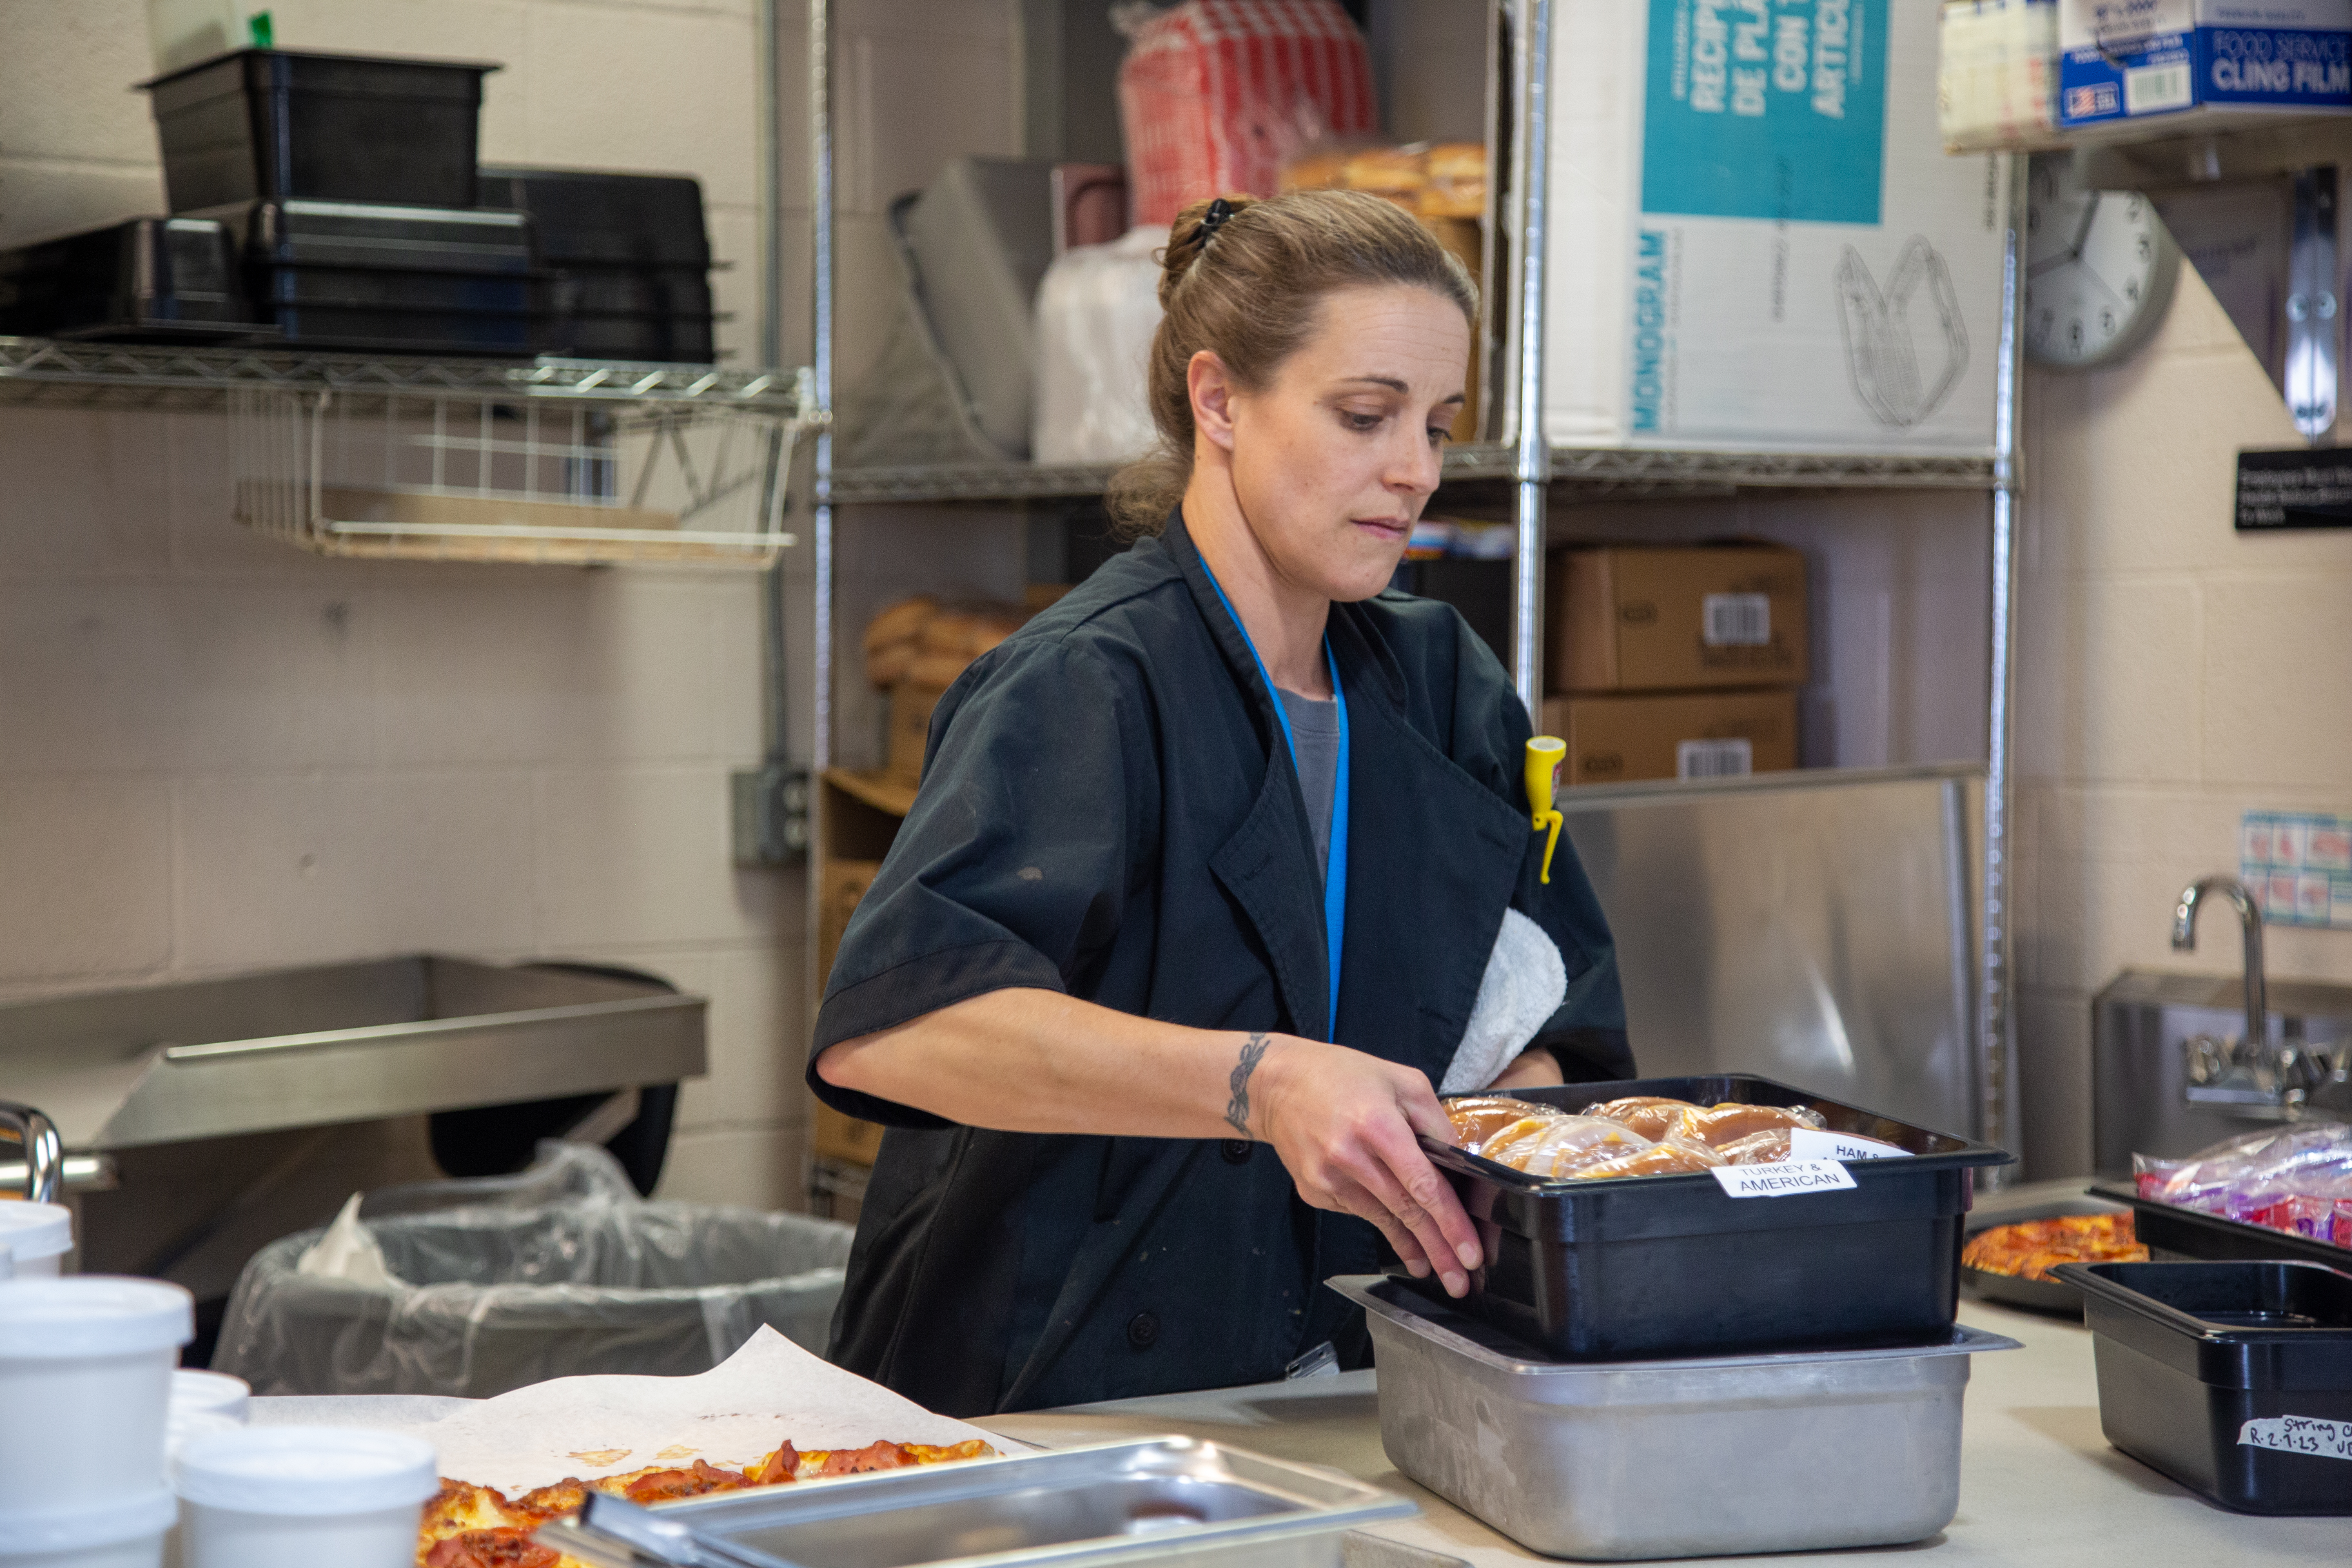
[[[480,200],[536,223],[555,275],[543,350],[579,360],[713,360],[710,237],[696,181],[487,167]]]

